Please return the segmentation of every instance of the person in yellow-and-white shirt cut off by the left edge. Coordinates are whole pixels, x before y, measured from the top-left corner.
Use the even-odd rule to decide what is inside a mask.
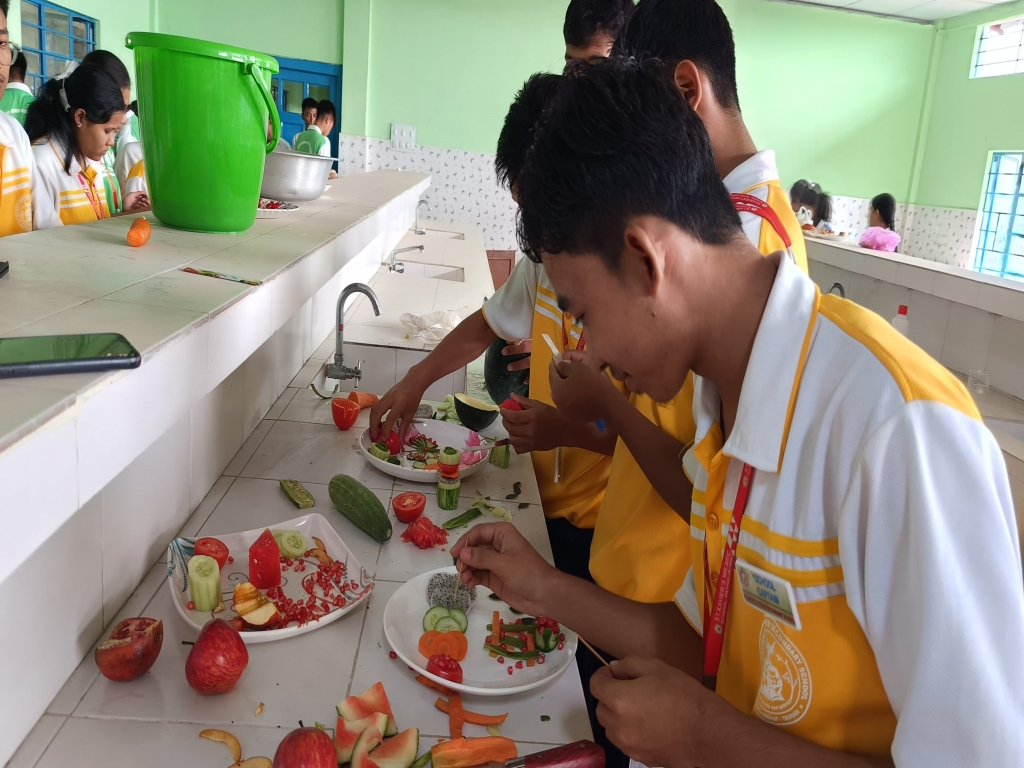
[[[8,0],[0,0],[0,97],[10,65],[19,55],[8,38],[7,9]],[[39,193],[29,137],[14,118],[0,112],[0,238],[32,231],[35,221],[47,219],[46,200]]]

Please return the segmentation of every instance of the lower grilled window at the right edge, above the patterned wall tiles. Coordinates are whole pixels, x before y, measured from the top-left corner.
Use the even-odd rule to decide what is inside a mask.
[[[1024,152],[997,152],[985,179],[974,268],[1024,280]]]

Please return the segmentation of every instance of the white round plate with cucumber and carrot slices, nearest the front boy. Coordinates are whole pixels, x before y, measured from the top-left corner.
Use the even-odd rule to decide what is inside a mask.
[[[492,600],[490,590],[485,587],[476,588],[476,603],[467,616],[469,628],[466,630],[466,640],[469,641],[469,653],[460,662],[463,681],[456,684],[431,675],[427,672],[427,659],[420,653],[420,636],[423,635],[423,614],[427,612],[430,603],[427,602],[427,583],[434,573],[455,573],[455,566],[438,568],[427,573],[421,573],[406,582],[398,591],[391,595],[384,608],[384,636],[391,648],[407,665],[421,675],[445,685],[449,688],[464,693],[476,693],[481,696],[507,696],[524,690],[537,688],[561,675],[572,663],[577,651],[577,634],[565,627],[565,647],[545,654],[544,664],[527,667],[523,664],[521,670],[515,669],[515,662],[498,659],[483,650],[484,640],[490,635],[487,625],[490,624],[494,611],[501,611],[506,623],[516,617],[508,604],[501,600]],[[508,668],[512,667],[509,675]]]

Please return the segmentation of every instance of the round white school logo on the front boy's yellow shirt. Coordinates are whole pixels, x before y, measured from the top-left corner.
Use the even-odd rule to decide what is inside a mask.
[[[754,714],[772,725],[800,722],[811,706],[811,672],[804,655],[772,618],[761,625],[761,686]]]

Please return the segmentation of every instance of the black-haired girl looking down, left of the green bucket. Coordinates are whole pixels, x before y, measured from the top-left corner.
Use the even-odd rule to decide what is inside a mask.
[[[44,222],[37,217],[36,228],[98,221],[113,214],[102,159],[114,145],[124,113],[121,89],[93,63],[43,86],[29,108],[25,127],[33,144],[41,195],[56,215]],[[141,195],[126,203],[125,211],[147,208]]]

